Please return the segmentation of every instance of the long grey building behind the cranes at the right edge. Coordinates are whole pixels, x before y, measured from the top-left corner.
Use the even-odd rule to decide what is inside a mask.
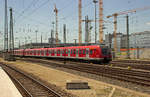
[[[111,48],[114,48],[113,34],[105,35],[105,44]],[[129,35],[130,48],[150,48],[150,31],[136,32]],[[127,48],[127,36],[122,33],[117,33],[117,48]]]

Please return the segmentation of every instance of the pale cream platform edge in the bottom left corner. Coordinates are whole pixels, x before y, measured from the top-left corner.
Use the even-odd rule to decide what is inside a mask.
[[[9,76],[0,67],[0,97],[22,97]]]

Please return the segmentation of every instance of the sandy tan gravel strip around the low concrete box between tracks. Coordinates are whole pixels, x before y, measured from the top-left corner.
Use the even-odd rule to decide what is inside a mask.
[[[38,76],[40,79],[48,81],[49,83],[53,85],[59,86],[63,90],[72,94],[76,94],[79,97],[108,97],[111,91],[113,90],[113,88],[116,88],[116,90],[114,91],[112,97],[150,97],[150,95],[135,92],[126,88],[121,88],[121,87],[128,87],[128,88],[133,87],[133,89],[136,91],[142,91],[143,89],[150,90],[149,88],[144,88],[141,86],[138,87],[137,85],[120,82],[117,80],[112,80],[112,79],[101,77],[101,76],[96,76],[96,75],[87,74],[87,73],[78,72],[78,71],[69,70],[69,69],[60,68],[60,67],[54,67],[50,65],[42,65],[42,64],[38,65],[38,64],[21,62],[21,61],[17,61],[13,64],[15,64],[14,66],[16,66],[17,68],[20,68],[28,73],[32,73],[34,76]],[[61,71],[47,68],[47,67],[55,68]],[[62,71],[65,71],[65,72],[62,72]],[[84,76],[84,77],[81,77],[81,76]],[[92,78],[92,79],[88,79],[85,77]],[[80,79],[80,80],[88,81],[91,89],[68,91],[65,89],[65,83],[66,83],[66,80],[68,79],[69,80]],[[93,79],[96,79],[98,81],[93,80]],[[106,84],[103,82],[117,84],[117,86]],[[121,87],[118,87],[118,85]]]

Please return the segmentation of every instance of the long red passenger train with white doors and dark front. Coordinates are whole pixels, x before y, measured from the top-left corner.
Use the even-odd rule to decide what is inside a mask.
[[[78,59],[99,62],[109,62],[112,60],[111,50],[106,46],[100,45],[19,49],[14,51],[14,55],[27,57]]]

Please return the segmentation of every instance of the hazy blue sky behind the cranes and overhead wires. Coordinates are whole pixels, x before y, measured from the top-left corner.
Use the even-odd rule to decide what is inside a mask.
[[[94,4],[93,0],[82,0],[82,19],[86,15],[89,19],[94,20]],[[43,41],[47,42],[50,37],[52,22],[55,21],[54,5],[58,8],[58,31],[59,39],[63,39],[63,24],[67,25],[67,42],[74,42],[78,39],[78,0],[8,0],[8,18],[9,8],[13,8],[14,16],[14,34],[16,46],[21,41],[21,44],[35,42],[36,33],[38,30],[38,42],[40,36],[43,36]],[[106,16],[113,13],[126,10],[150,7],[150,0],[103,0],[104,8],[104,34],[112,33],[113,18]],[[98,4],[97,4],[98,9]],[[97,18],[98,18],[97,10]],[[134,32],[150,31],[150,9],[137,11],[129,14],[130,34]],[[82,38],[84,41],[84,23]],[[94,42],[94,22],[91,23],[93,29],[91,31],[91,39]],[[97,28],[98,32],[98,28]],[[126,18],[125,15],[118,16],[117,32],[126,33]],[[0,0],[0,48],[3,48],[3,33],[4,33],[4,0]]]

